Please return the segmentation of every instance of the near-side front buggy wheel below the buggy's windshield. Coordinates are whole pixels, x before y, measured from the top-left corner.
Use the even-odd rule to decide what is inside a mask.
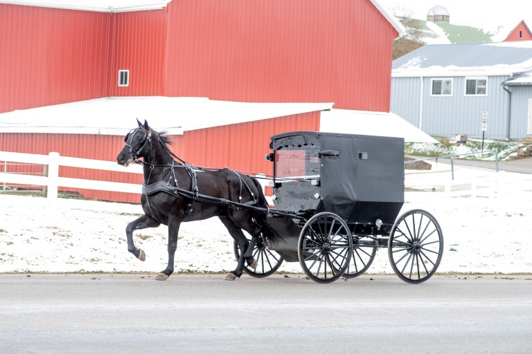
[[[301,268],[313,281],[330,283],[347,270],[353,250],[346,222],[330,212],[312,216],[299,234],[297,254]]]

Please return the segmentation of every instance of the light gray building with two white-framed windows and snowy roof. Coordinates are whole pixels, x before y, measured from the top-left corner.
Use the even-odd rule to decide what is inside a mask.
[[[392,63],[390,110],[431,136],[532,136],[532,41],[418,48]]]

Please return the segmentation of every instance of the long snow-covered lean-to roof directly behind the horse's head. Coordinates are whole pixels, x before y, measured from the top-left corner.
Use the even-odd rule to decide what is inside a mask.
[[[183,131],[331,109],[332,103],[249,103],[205,97],[106,97],[0,114],[0,133],[123,135],[148,120],[173,135]]]

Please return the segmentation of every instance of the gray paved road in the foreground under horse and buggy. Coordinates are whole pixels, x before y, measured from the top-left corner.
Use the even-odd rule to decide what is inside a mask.
[[[532,275],[0,274],[1,353],[530,353]]]

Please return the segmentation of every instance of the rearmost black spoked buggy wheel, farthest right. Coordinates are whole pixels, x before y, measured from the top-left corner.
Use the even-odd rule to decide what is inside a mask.
[[[425,210],[402,214],[388,240],[391,267],[407,283],[423,283],[436,272],[443,255],[443,233],[436,218]]]

